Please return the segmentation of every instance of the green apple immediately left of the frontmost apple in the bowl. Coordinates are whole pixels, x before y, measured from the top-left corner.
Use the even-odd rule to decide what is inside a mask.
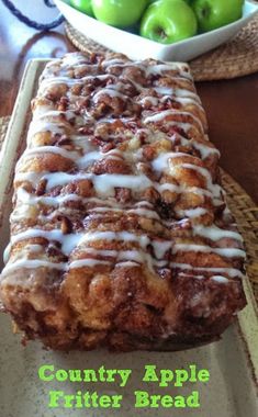
[[[91,3],[98,20],[112,26],[127,27],[141,19],[148,0],[91,0]]]

